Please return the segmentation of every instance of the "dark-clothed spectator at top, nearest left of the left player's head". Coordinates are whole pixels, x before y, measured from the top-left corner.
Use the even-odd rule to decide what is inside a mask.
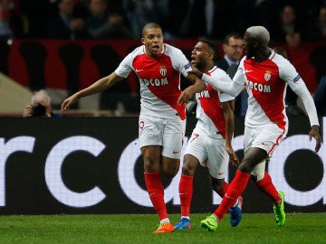
[[[86,29],[91,38],[132,38],[123,16],[108,9],[107,0],[90,0]]]

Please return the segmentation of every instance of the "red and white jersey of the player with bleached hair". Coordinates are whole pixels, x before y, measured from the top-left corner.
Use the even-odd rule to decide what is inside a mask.
[[[260,127],[273,123],[287,129],[284,102],[286,86],[289,85],[293,91],[305,86],[290,61],[273,51],[262,62],[244,57],[233,81],[245,84],[248,92],[245,126]]]

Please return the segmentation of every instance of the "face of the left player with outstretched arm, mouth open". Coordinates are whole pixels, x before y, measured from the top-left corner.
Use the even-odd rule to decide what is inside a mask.
[[[149,28],[143,31],[141,42],[145,45],[146,54],[151,57],[157,57],[162,52],[164,36],[161,28]]]

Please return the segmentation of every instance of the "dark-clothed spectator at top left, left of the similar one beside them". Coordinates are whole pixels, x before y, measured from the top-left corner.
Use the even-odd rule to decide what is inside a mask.
[[[74,6],[73,0],[58,0],[59,13],[48,21],[48,38],[73,40],[88,37],[84,20],[74,15]]]

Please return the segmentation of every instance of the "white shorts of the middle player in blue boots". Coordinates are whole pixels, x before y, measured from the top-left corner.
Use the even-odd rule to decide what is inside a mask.
[[[185,155],[196,156],[202,166],[207,167],[209,174],[216,179],[224,179],[227,173],[229,155],[225,150],[225,139],[208,136],[208,134],[198,128],[192,132],[188,141]]]

